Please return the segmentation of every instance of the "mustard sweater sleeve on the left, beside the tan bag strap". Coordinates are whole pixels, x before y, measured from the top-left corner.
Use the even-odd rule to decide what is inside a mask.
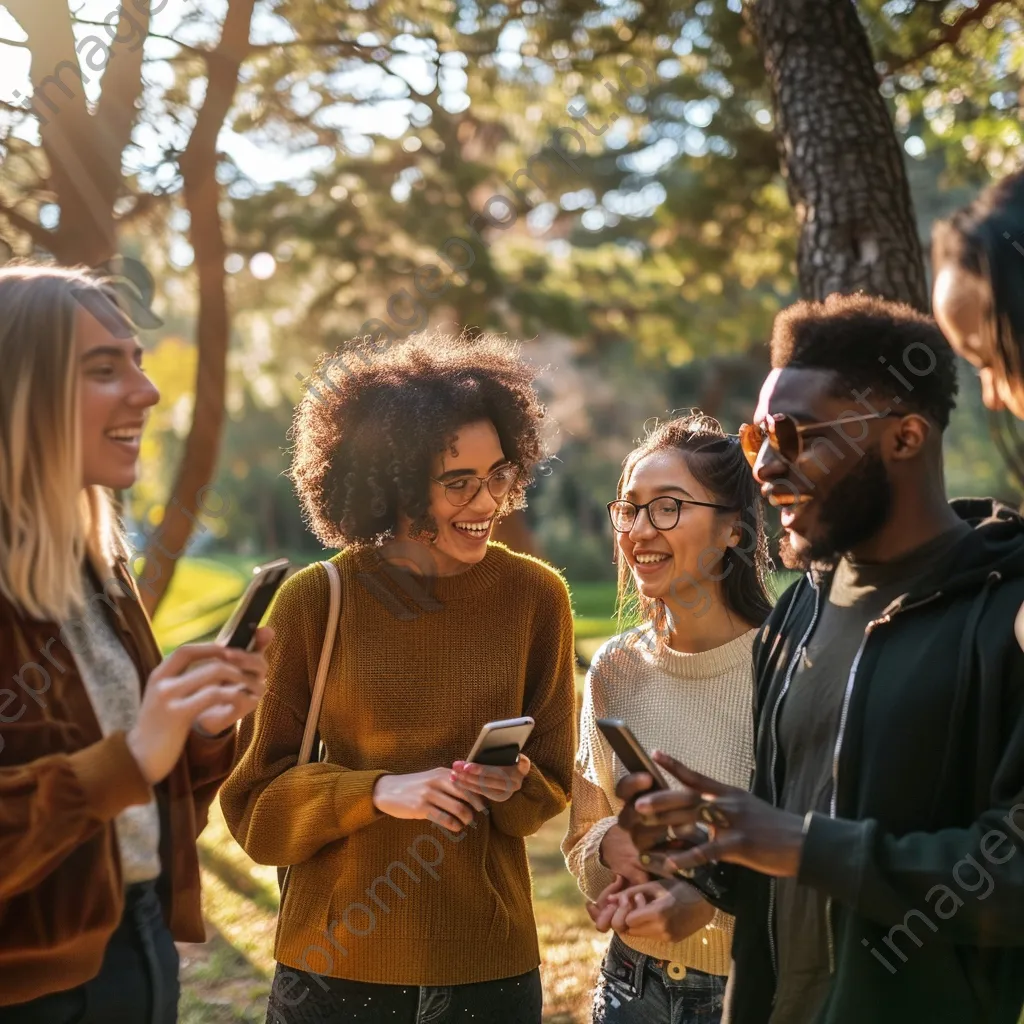
[[[220,793],[231,835],[260,864],[301,863],[383,816],[373,804],[383,771],[297,764],[328,598],[321,565],[281,589],[269,620],[276,636],[267,651],[266,693],[240,725],[234,769]]]

